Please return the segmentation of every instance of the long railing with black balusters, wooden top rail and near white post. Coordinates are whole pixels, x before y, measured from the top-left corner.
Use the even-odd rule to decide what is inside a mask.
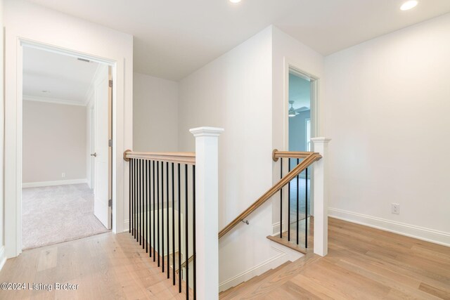
[[[191,129],[195,153],[124,152],[129,164],[129,233],[167,279],[172,276],[172,284],[178,282],[186,299],[191,292],[193,299],[217,299],[219,294],[218,136],[222,131]]]

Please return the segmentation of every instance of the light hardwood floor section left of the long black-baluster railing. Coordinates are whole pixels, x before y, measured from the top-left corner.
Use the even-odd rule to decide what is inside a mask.
[[[79,285],[74,291],[0,289],[2,300],[186,299],[129,233],[103,233],[25,250],[6,261],[1,282]]]

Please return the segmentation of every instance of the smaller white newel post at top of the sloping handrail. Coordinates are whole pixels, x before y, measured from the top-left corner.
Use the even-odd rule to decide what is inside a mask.
[[[322,158],[314,163],[314,253],[328,254],[328,182],[327,159],[330,138],[311,138],[314,152]]]

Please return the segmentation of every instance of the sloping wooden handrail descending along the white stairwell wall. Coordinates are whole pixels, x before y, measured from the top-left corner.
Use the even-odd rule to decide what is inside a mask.
[[[274,151],[275,152],[275,151]],[[279,152],[279,151],[278,151]],[[292,169],[288,174],[286,174],[283,178],[280,179],[273,187],[271,187],[264,195],[259,197],[258,200],[255,201],[248,209],[245,209],[239,216],[236,217],[231,223],[229,223],[227,226],[224,227],[224,229],[219,231],[219,238],[223,237],[228,233],[231,229],[233,229],[236,225],[240,223],[240,221],[244,220],[247,216],[252,214],[253,211],[255,211],[258,207],[260,207],[264,202],[269,200],[273,195],[275,195],[278,190],[283,188],[285,185],[287,185],[291,180],[293,180],[298,174],[302,173],[304,169],[307,169],[310,164],[313,162],[316,162],[317,160],[321,159],[322,156],[319,153],[316,152],[294,152],[294,153],[308,153],[306,157],[300,162],[300,164],[297,164],[297,167]],[[285,152],[283,152],[283,155]],[[287,156],[280,156],[280,157],[287,157]],[[294,156],[294,158],[297,158]],[[278,159],[277,159],[278,160]]]

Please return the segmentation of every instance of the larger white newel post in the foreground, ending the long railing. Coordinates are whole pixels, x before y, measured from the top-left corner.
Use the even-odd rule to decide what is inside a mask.
[[[219,135],[221,128],[190,129],[195,136],[197,298],[219,299]]]

